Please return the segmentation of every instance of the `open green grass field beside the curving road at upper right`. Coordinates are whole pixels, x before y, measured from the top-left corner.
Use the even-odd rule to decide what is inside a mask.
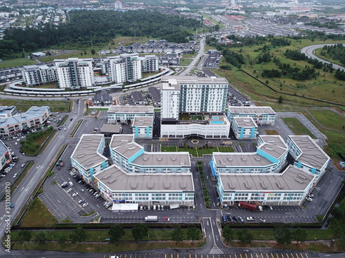
[[[286,50],[298,50],[306,45],[315,45],[317,43],[337,43],[335,41],[314,41],[311,42],[308,39],[294,40],[289,39],[291,45],[284,47],[275,47],[270,49],[270,54],[274,55],[275,58],[279,58],[281,63],[288,63],[292,67],[298,67],[304,69],[306,65],[311,66],[306,61],[293,61],[284,56]],[[258,54],[262,53],[257,50],[263,47],[263,45],[258,46],[248,46],[248,47],[233,47],[232,51],[242,54],[246,61],[245,65],[242,65],[242,69],[248,74],[251,74],[255,78],[265,82],[268,80],[268,85],[273,87],[273,89],[293,94],[297,96],[306,96],[309,98],[315,98],[318,100],[327,100],[333,103],[343,104],[345,98],[345,82],[342,80],[337,80],[334,73],[324,72],[322,69],[316,69],[319,72],[317,78],[311,80],[293,80],[283,76],[282,78],[262,78],[262,71],[264,69],[278,69],[277,65],[270,61],[268,63],[257,63],[256,57]],[[224,58],[221,59],[221,64],[227,64]],[[231,71],[226,71],[222,69],[215,69],[215,72],[220,76],[226,76],[230,83],[234,83],[235,86],[241,87],[244,94],[248,94],[253,100],[277,100],[280,95],[283,96],[283,103],[295,103],[299,105],[326,105],[323,103],[315,102],[314,100],[307,100],[304,98],[297,98],[295,96],[287,96],[285,94],[275,93],[268,89],[262,83],[259,83],[255,78],[244,74],[237,68],[233,68]]]

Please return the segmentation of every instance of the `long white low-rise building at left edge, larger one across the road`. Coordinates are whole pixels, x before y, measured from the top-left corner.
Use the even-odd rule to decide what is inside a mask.
[[[0,135],[11,136],[23,129],[29,129],[37,125],[42,125],[50,116],[50,107],[30,107],[28,111],[23,114],[15,114],[0,118]]]

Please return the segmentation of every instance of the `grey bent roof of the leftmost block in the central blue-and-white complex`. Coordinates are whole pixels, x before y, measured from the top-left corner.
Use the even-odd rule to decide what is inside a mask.
[[[83,134],[71,158],[81,164],[84,169],[90,169],[90,167],[108,160],[102,153],[97,153],[102,138],[103,134]]]

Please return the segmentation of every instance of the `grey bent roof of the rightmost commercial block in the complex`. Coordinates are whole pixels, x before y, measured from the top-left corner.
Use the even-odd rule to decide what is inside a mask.
[[[295,142],[302,154],[297,157],[300,161],[308,166],[321,169],[329,160],[329,156],[316,144],[310,136],[288,136]]]

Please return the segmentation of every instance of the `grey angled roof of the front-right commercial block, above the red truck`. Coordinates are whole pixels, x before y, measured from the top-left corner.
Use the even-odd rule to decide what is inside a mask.
[[[304,191],[315,175],[290,165],[283,173],[219,173],[225,191]]]

